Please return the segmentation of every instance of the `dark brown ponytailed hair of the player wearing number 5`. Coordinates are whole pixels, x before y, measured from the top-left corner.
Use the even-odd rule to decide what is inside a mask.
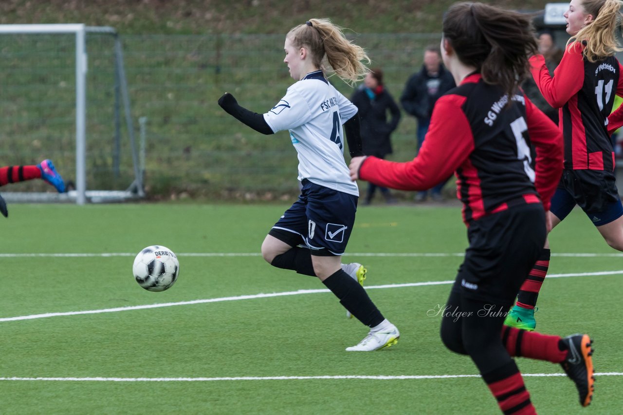
[[[538,50],[530,15],[462,2],[445,13],[443,31],[462,63],[509,95],[530,74],[528,56]]]

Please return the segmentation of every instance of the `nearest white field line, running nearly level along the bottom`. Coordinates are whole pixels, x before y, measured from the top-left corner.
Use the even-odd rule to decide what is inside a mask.
[[[528,377],[566,376],[564,373],[521,373]],[[595,373],[595,376],[623,376],[620,372]],[[73,382],[209,382],[227,380],[411,380],[480,378],[480,375],[340,375],[340,376],[232,376],[223,378],[0,378],[0,381],[73,381]]]

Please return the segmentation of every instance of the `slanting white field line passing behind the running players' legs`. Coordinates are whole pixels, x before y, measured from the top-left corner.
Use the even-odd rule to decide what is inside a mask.
[[[574,273],[574,274],[551,274],[548,278],[566,278],[566,277],[586,277],[586,276],[604,276],[604,275],[616,275],[623,274],[623,270],[619,271],[601,271],[596,273]],[[385,288],[402,288],[402,287],[422,287],[422,286],[437,286],[452,284],[454,280],[447,281],[426,281],[426,282],[407,282],[404,284],[384,284],[380,286],[367,286],[365,289],[385,289]],[[145,310],[145,309],[157,309],[161,307],[173,307],[176,305],[193,305],[193,304],[205,304],[208,302],[223,302],[223,301],[239,301],[239,300],[252,300],[258,298],[270,298],[270,297],[285,297],[285,296],[299,296],[302,294],[319,294],[330,292],[328,289],[302,289],[297,291],[285,291],[285,292],[272,292],[268,294],[250,294],[246,296],[234,296],[234,297],[219,297],[192,301],[179,301],[179,302],[163,302],[159,304],[145,304],[145,305],[128,305],[126,307],[114,307],[111,309],[100,310],[83,310],[83,311],[67,311],[67,312],[55,312],[55,313],[43,313],[43,314],[31,314],[31,315],[19,315],[17,317],[2,317],[0,322],[17,321],[17,320],[34,320],[45,319],[47,317],[60,317],[63,315],[82,315],[82,314],[101,314],[101,313],[113,313],[120,311],[131,310]]]

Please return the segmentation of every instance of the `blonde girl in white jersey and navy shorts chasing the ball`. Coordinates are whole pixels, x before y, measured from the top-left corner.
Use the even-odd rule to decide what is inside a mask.
[[[340,27],[327,19],[310,19],[288,32],[285,58],[295,82],[267,113],[257,114],[224,94],[219,105],[263,134],[287,129],[298,153],[302,190],[262,243],[262,256],[277,268],[316,276],[363,324],[368,335],[348,351],[367,352],[396,344],[400,333],[386,320],[363,289],[366,269],[341,264],[353,229],[359,190],[344,160],[344,124],[351,156],[361,155],[357,107],[326,80],[323,58],[350,82],[367,72],[361,47],[351,44]]]

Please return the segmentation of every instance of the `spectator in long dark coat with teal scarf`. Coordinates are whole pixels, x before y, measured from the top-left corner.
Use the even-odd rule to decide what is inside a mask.
[[[371,70],[363,85],[354,91],[351,101],[359,109],[364,154],[384,159],[392,152],[389,136],[397,128],[401,114],[396,101],[383,86],[383,71],[379,68]],[[376,188],[376,185],[368,184],[364,204],[371,203]],[[386,187],[379,187],[379,190],[386,202],[394,202]]]

